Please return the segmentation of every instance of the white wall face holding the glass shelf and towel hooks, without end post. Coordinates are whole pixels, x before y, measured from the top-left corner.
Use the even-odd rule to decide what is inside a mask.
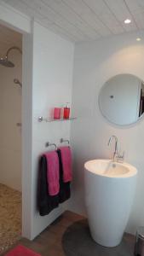
[[[49,117],[51,108],[72,102],[72,67],[74,45],[43,26],[34,23],[33,30],[33,103],[32,103],[32,236],[37,236],[60,212],[61,205],[46,217],[37,212],[37,163],[48,148],[45,143],[60,144],[69,139],[70,123],[38,123],[37,117]],[[54,148],[49,148],[54,149]]]

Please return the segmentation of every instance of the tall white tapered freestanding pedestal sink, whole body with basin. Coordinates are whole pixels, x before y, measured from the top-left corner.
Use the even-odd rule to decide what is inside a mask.
[[[89,160],[84,165],[85,203],[93,239],[105,247],[122,240],[135,198],[134,166],[112,160]]]

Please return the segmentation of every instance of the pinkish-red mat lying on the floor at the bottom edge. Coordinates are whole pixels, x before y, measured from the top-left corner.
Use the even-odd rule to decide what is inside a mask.
[[[40,256],[40,254],[34,253],[32,250],[23,247],[22,245],[18,245],[7,253],[6,256]]]

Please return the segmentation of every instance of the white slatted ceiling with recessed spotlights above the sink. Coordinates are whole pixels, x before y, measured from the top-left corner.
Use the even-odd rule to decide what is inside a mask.
[[[74,42],[144,29],[144,0],[3,0]],[[125,25],[124,20],[132,20]]]

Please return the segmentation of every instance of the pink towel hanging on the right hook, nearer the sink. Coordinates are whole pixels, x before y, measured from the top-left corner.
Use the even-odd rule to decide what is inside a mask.
[[[60,147],[63,181],[64,183],[72,181],[72,151],[70,147]]]

